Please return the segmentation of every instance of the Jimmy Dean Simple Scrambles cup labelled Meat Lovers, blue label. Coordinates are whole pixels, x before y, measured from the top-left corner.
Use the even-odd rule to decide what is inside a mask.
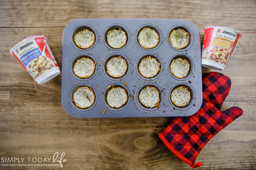
[[[15,45],[10,54],[14,55],[38,84],[45,83],[60,74],[44,35],[33,35]]]

